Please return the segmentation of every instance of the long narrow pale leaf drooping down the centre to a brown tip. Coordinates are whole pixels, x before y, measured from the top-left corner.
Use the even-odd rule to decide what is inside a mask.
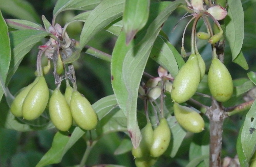
[[[170,5],[154,19],[140,43],[127,52],[123,61],[123,80],[128,91],[128,101],[126,103],[127,128],[134,147],[139,145],[141,139],[136,113],[141,77],[153,43],[161,30],[161,25],[182,2],[183,1],[171,2]]]

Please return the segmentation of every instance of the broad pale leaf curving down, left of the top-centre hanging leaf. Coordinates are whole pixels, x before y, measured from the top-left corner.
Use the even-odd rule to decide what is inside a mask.
[[[121,17],[124,0],[103,0],[89,15],[84,23],[79,47],[82,49],[95,34],[112,21]]]

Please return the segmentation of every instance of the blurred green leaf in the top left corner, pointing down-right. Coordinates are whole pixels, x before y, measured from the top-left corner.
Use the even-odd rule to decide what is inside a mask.
[[[0,10],[6,13],[24,20],[33,22],[40,22],[40,18],[37,15],[33,6],[25,0],[0,0]]]

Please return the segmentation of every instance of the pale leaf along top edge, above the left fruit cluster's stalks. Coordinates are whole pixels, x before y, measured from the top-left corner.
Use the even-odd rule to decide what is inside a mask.
[[[54,9],[53,16],[56,17],[65,10],[93,10],[102,0],[58,0]]]

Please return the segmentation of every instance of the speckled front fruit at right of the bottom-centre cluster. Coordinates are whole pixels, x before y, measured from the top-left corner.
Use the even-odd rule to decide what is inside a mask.
[[[153,144],[150,149],[152,157],[161,156],[169,146],[170,128],[165,118],[160,120],[159,126],[154,130]]]

